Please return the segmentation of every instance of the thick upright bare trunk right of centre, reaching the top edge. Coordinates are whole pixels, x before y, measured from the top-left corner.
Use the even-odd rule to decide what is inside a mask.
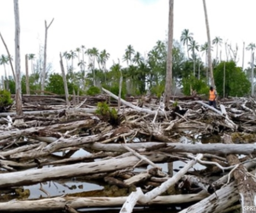
[[[164,90],[164,103],[168,107],[172,92],[172,43],[173,43],[173,3],[174,0],[169,0],[169,31],[168,31],[168,52],[166,64],[166,80]]]

